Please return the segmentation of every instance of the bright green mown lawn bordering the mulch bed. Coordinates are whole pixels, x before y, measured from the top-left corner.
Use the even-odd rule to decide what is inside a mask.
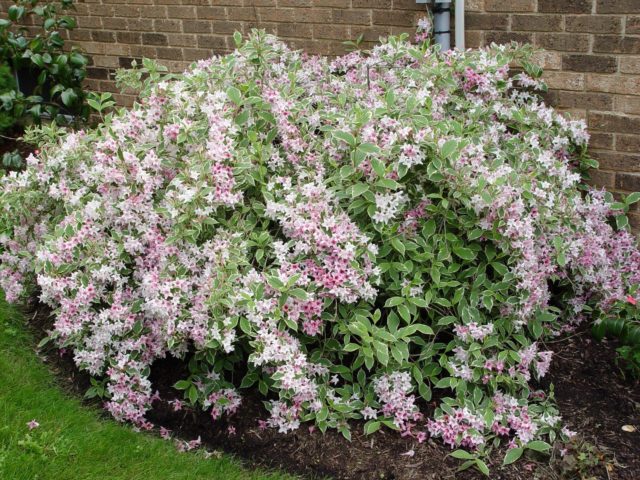
[[[29,431],[35,419],[40,427]],[[0,479],[292,480],[248,471],[228,456],[178,452],[172,442],[100,418],[56,386],[19,311],[0,291]]]

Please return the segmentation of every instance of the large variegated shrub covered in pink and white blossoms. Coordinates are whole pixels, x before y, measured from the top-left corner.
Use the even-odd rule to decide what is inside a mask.
[[[508,461],[547,449],[541,340],[635,298],[640,253],[626,204],[583,191],[584,124],[536,96],[531,52],[236,41],[121,75],[138,105],[3,179],[7,297],[37,284],[51,338],[143,428],[172,355],[213,418],[256,386],[281,432],[365,419],[480,454],[504,440]]]

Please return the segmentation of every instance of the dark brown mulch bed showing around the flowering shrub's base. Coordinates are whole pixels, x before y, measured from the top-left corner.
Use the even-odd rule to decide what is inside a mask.
[[[30,326],[42,338],[51,327],[50,311],[33,303],[28,307]],[[579,432],[581,443],[595,448],[578,463],[561,458],[558,448],[551,459],[545,456],[527,457],[513,465],[501,466],[504,450],[489,459],[492,480],[559,480],[605,479],[637,480],[640,478],[640,385],[625,380],[615,365],[615,348],[591,339],[588,331],[546,346],[555,352],[551,371],[544,387],[555,385],[560,412],[567,425]],[[50,364],[62,386],[74,394],[83,394],[89,378],[75,367],[69,353],[60,354],[52,347],[41,353]],[[181,398],[172,385],[184,378],[186,366],[168,358],[153,364],[151,380],[159,390],[161,401],[154,403],[147,418],[158,427],[170,429],[185,440],[200,436],[204,446],[234,454],[249,464],[277,468],[306,478],[337,480],[445,480],[486,479],[477,471],[457,472],[460,462],[448,457],[451,450],[441,442],[428,440],[423,444],[401,438],[396,432],[378,431],[364,436],[354,425],[352,441],[341,434],[317,429],[309,431],[302,425],[297,431],[279,434],[273,429],[258,428],[258,419],[266,418],[260,398],[247,394],[243,408],[226,420],[213,422],[208,413],[185,409],[175,412],[169,401]],[[97,404],[95,401],[88,403]],[[627,433],[623,425],[635,425],[638,431]],[[233,426],[235,435],[227,428]],[[413,456],[403,455],[413,450]],[[584,450],[580,450],[584,451]],[[580,451],[573,452],[576,458]],[[595,453],[593,453],[595,452]],[[595,459],[595,465],[588,465]]]

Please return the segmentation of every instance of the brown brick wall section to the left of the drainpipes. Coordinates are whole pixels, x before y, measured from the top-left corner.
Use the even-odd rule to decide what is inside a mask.
[[[9,4],[0,0],[1,11]],[[360,34],[373,45],[380,36],[415,31],[426,6],[415,0],[79,0],[76,9],[70,40],[92,57],[88,87],[117,93],[113,73],[134,58],[180,71],[231,50],[235,31],[256,27],[309,53],[337,55],[342,42]]]

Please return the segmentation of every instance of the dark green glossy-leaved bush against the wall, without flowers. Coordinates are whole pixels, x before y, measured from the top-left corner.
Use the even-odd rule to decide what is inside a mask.
[[[72,9],[72,0],[18,0],[9,6],[7,18],[0,19],[0,63],[10,66],[21,82],[31,83],[21,85],[22,91],[15,84],[2,88],[0,115],[12,119],[7,123],[39,123],[47,116],[64,124],[69,116],[87,115],[82,90],[87,57],[75,47],[65,49],[62,36],[76,27],[67,14]],[[34,26],[37,33],[32,35]]]

